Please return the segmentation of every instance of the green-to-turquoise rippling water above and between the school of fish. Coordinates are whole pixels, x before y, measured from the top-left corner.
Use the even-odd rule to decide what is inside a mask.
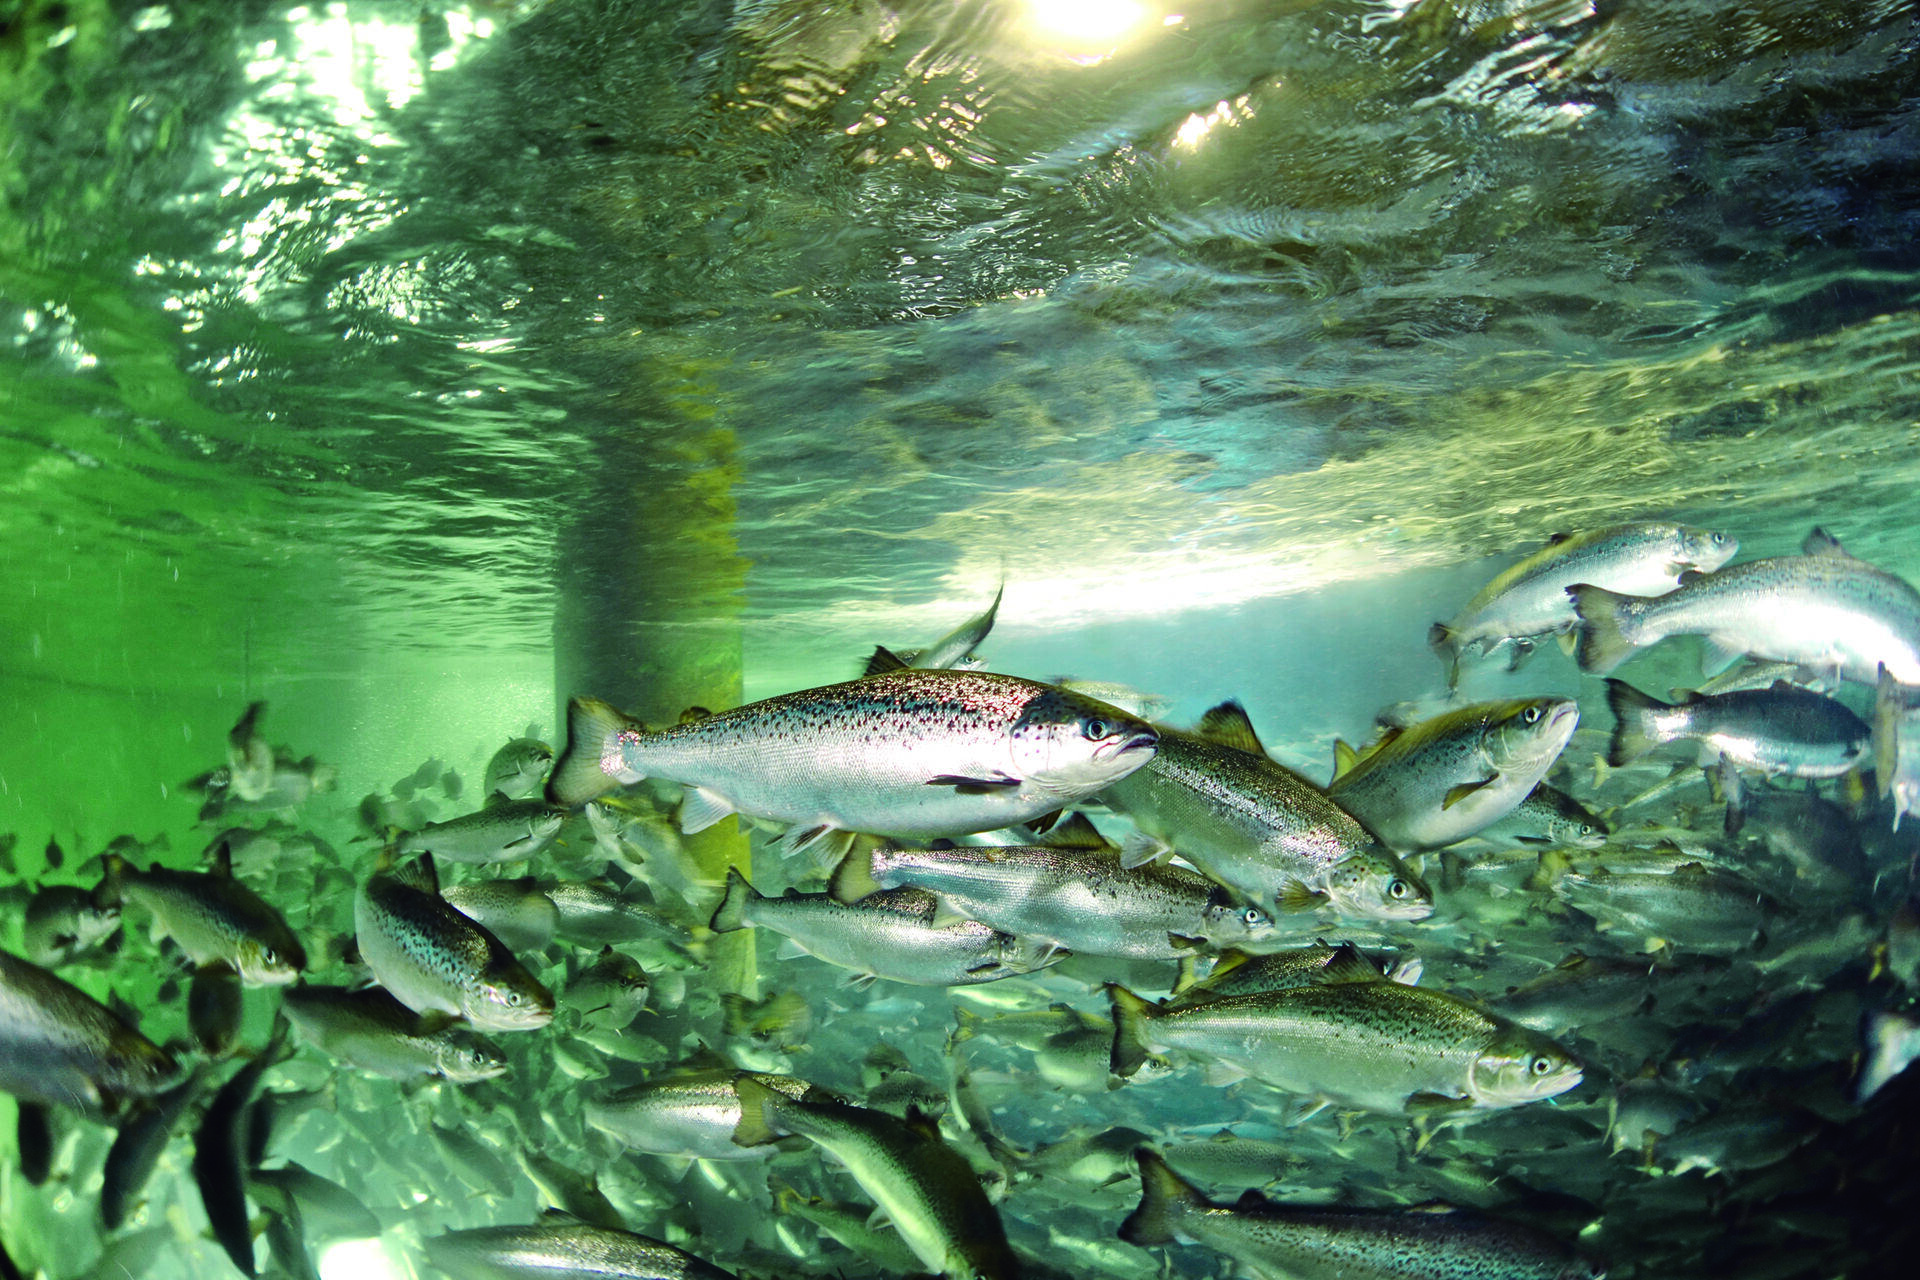
[[[1002,581],[996,670],[1119,679],[1173,699],[1173,723],[1238,697],[1325,781],[1334,737],[1442,691],[1427,624],[1555,530],[1678,518],[1745,558],[1824,524],[1920,580],[1916,6],[1087,8],[13,6],[0,829],[19,871],[56,839],[79,875],[121,833],[190,865],[211,833],[182,783],[252,699],[273,741],[338,770],[296,818],[359,873],[357,802],[428,756],[472,794],[572,693],[668,718],[843,679]],[[1693,677],[1686,652],[1642,662],[1655,691]],[[1544,652],[1467,683],[1507,691],[1582,697],[1569,766],[1590,783],[1597,681]],[[338,933],[309,871],[261,889]],[[146,1007],[163,979],[142,960],[90,990]],[[1859,960],[1853,986],[1878,990]],[[858,1057],[872,1019],[829,1004],[847,1017],[816,1009],[814,1061]],[[161,1006],[157,1034],[179,1023]],[[947,1002],[914,1007],[900,1048],[937,1079]],[[271,1000],[250,1013],[257,1044]],[[516,1054],[526,1098],[561,1092]],[[1605,1092],[1551,1113],[1574,1117],[1563,1163],[1601,1150]],[[1112,1098],[1006,1123],[1016,1142],[1140,1125]],[[1242,1115],[1202,1103],[1165,1105]],[[634,1176],[566,1115],[549,1155]],[[1822,1119],[1841,1163],[1859,1117]],[[106,1130],[75,1132],[61,1180],[6,1174],[0,1238],[52,1276],[96,1257]],[[223,1274],[186,1157],[152,1274]],[[1728,1274],[1693,1247],[1722,1211],[1801,1242],[1780,1257],[1805,1274],[1845,1253],[1830,1219],[1768,1207],[1801,1184],[1672,1178],[1661,1217],[1617,1161],[1576,1190],[1544,1159],[1530,1182],[1511,1150],[1488,1163],[1599,1203],[1613,1274]],[[1415,1173],[1363,1182],[1365,1203],[1448,1197]],[[411,1219],[396,1259],[444,1224],[407,1207],[440,1196],[432,1174],[369,1174]],[[534,1201],[518,1180],[455,1221]],[[1071,1224],[1112,1244],[1127,1201]],[[726,1203],[710,1253],[778,1247],[739,1226],[770,1207]],[[1044,1213],[1008,1217],[1073,1265]]]

